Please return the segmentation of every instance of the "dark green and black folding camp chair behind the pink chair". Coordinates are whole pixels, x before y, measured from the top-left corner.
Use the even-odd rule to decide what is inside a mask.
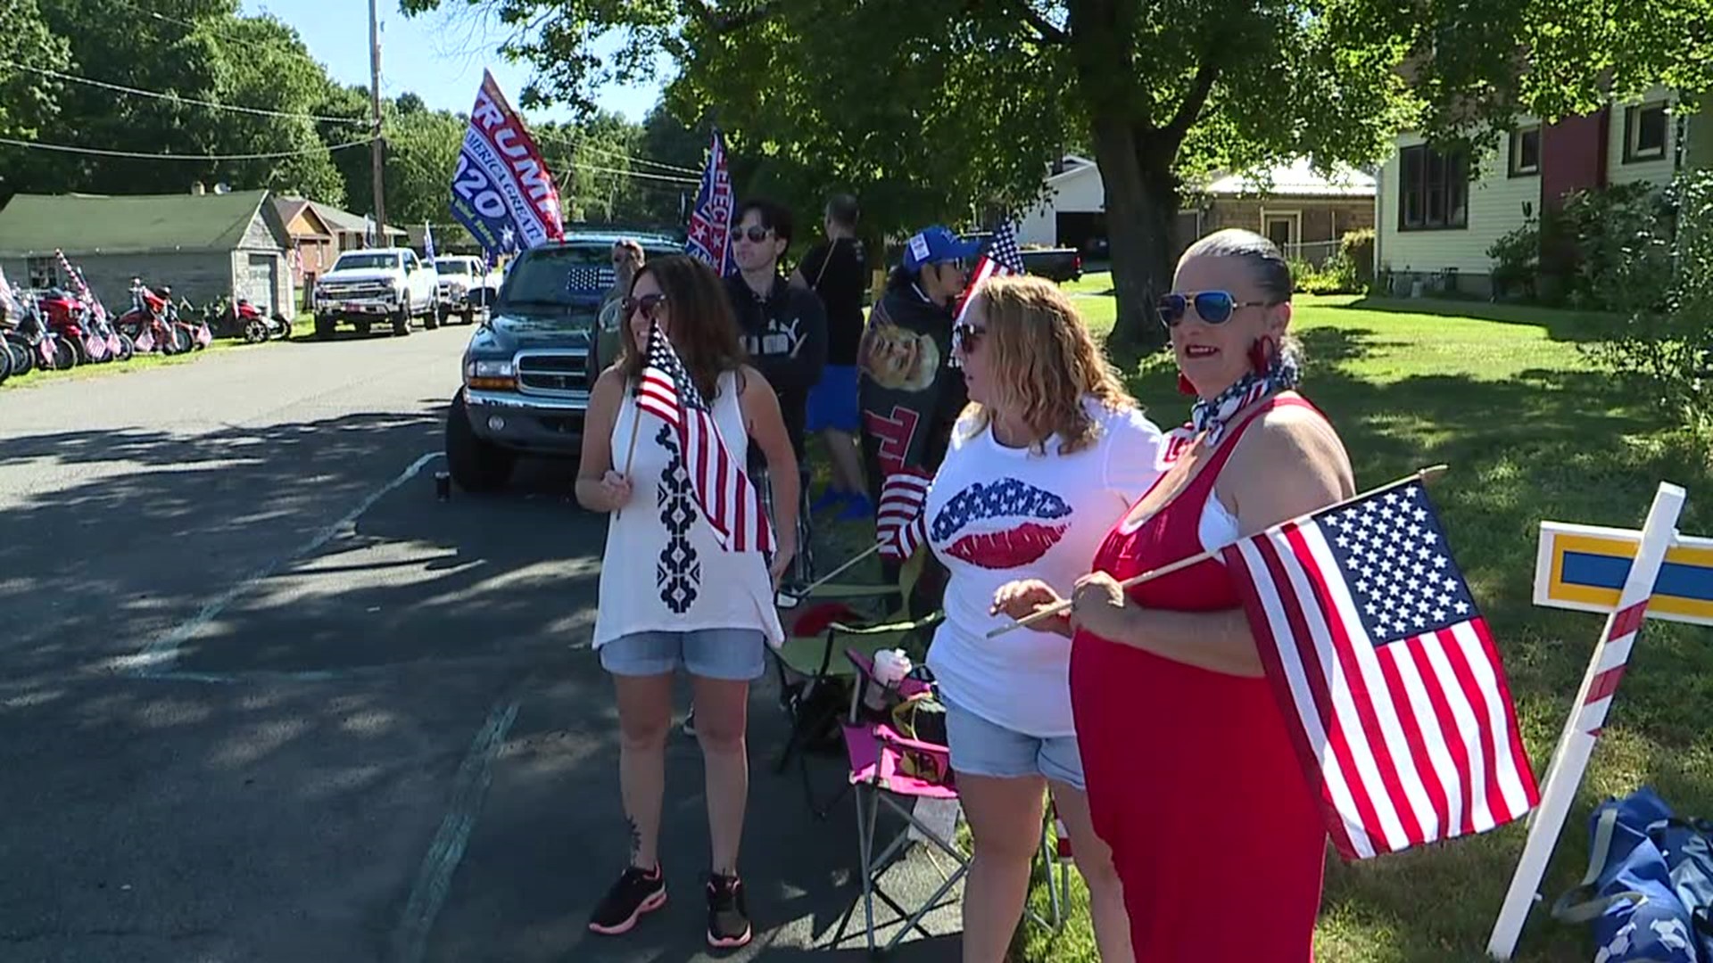
[[[805,800],[817,819],[826,819],[836,800],[815,802],[807,752],[817,744],[826,744],[831,751],[843,749],[838,725],[855,677],[850,660],[836,655],[848,648],[872,660],[880,649],[901,648],[913,661],[923,660],[928,634],[942,613],[910,619],[903,610],[903,600],[910,598],[923,559],[925,552],[918,550],[901,565],[896,586],[829,583],[786,613],[786,639],[774,649],[774,667],[779,677],[779,706],[791,720],[791,732],[774,771],[783,773],[797,761]],[[899,608],[884,612],[887,601]],[[868,612],[858,608],[865,603]]]

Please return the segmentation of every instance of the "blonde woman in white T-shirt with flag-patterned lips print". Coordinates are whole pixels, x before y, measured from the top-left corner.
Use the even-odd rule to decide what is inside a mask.
[[[970,408],[934,476],[928,545],[951,571],[928,668],[975,840],[963,958],[1002,960],[1030,886],[1052,788],[1088,881],[1101,960],[1131,960],[1124,896],[1083,793],[1071,643],[992,608],[1006,583],[1069,596],[1112,524],[1158,476],[1161,434],[1125,394],[1071,300],[1040,278],[994,278],[952,329]]]

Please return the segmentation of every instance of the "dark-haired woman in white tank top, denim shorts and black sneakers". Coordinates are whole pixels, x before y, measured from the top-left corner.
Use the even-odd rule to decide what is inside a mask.
[[[743,363],[730,302],[706,264],[682,255],[648,262],[624,312],[624,353],[594,382],[577,470],[577,504],[612,512],[594,648],[618,694],[618,788],[630,833],[630,862],[594,908],[589,929],[627,932],[666,901],[656,840],[673,673],[683,667],[694,684],[707,771],[707,942],[743,946],[750,922],[737,858],[749,795],[749,684],[766,668],[764,646],[785,637],[773,600],[778,576],[797,552],[797,458],[778,398]],[[653,326],[695,382],[731,471],[747,463],[750,439],[767,456],[779,512],[771,559],[754,547],[721,545],[695,497],[694,466],[685,464],[678,432],[637,406]],[[759,502],[743,504],[735,526],[757,511]]]

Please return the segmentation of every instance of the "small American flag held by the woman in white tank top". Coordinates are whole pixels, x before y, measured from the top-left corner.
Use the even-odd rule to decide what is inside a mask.
[[[743,464],[731,458],[702,392],[658,324],[648,336],[637,408],[677,428],[690,492],[719,547],[728,552],[773,552],[773,526],[762,511],[761,492],[743,473]]]

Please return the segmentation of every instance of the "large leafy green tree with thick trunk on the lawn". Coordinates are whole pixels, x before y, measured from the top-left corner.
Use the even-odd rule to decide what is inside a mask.
[[[665,53],[680,120],[718,117],[764,178],[855,188],[889,230],[1021,211],[1047,163],[1088,144],[1129,341],[1160,338],[1146,308],[1170,283],[1184,178],[1304,154],[1365,164],[1418,120],[1494,127],[1516,106],[1588,103],[1615,74],[1713,70],[1680,63],[1706,51],[1708,0],[463,2],[529,24],[504,48],[538,70],[526,103],[588,105]],[[625,43],[603,60],[608,33]]]

